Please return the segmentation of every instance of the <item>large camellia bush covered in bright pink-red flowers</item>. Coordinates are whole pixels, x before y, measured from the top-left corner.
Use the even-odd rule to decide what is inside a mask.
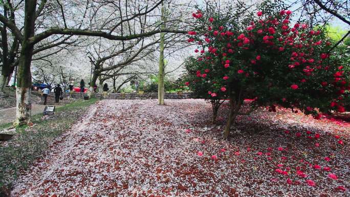
[[[255,13],[244,12],[199,9],[192,14],[195,29],[188,32],[188,41],[199,46],[194,68],[187,68],[195,71],[188,85],[200,83],[207,95],[230,99],[225,138],[245,98],[254,99],[252,110],[281,105],[316,119],[345,112],[348,73],[329,53],[332,42],[321,27],[292,21],[291,11],[268,1]]]

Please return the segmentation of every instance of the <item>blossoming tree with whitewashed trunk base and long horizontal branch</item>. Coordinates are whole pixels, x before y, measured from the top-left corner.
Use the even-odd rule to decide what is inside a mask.
[[[8,1],[8,3],[11,2]],[[63,2],[42,0],[40,3],[37,1],[20,1],[20,6],[17,7],[16,11],[24,13],[23,22],[16,20],[16,18],[9,19],[0,14],[0,22],[11,31],[21,46],[18,56],[15,124],[27,124],[30,121],[31,61],[35,45],[57,34],[98,36],[111,40],[126,41],[149,37],[160,32],[184,33],[185,31],[160,30],[158,27],[152,28],[151,26],[140,27],[142,29],[141,33],[134,32],[133,29],[125,30],[123,28],[125,24],[137,21],[139,16],[148,15],[161,3],[162,1],[136,1],[121,6],[123,4],[121,1]],[[72,7],[72,5],[75,5],[75,7]],[[57,9],[52,10],[53,8]],[[105,14],[108,12],[111,14]],[[52,20],[49,20],[49,17]],[[40,20],[44,21],[43,23],[38,23],[40,18],[45,18],[45,20]],[[51,21],[53,23],[50,23]],[[38,26],[39,30],[36,29]],[[121,34],[122,31],[127,33]]]

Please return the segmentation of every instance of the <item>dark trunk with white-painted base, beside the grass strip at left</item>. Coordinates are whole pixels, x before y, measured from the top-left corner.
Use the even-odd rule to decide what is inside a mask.
[[[16,120],[14,125],[23,125],[30,122],[32,113],[31,103],[31,62],[34,46],[30,43],[30,37],[34,35],[36,1],[26,1],[25,4],[25,24],[24,39],[19,55],[17,71],[17,89],[16,89]]]

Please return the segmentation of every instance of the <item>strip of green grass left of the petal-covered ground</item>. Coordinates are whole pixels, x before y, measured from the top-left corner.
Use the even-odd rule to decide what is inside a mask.
[[[18,170],[26,169],[50,143],[88,112],[88,106],[96,101],[97,99],[79,100],[58,107],[54,119],[41,120],[41,114],[34,115],[33,126],[17,127],[13,139],[0,143],[0,196],[11,188]],[[10,125],[11,123],[2,124],[0,129]]]

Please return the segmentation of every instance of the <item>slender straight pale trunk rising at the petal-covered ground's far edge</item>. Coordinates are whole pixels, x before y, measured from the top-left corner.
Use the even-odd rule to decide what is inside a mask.
[[[162,25],[161,29],[165,29],[164,3],[162,2]],[[158,71],[158,103],[164,105],[164,33],[160,34],[160,56],[159,56],[159,71]]]

